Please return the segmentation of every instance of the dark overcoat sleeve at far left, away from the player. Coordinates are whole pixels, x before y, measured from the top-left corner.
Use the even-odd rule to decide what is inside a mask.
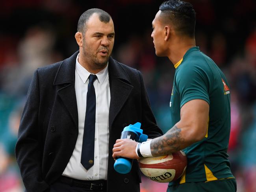
[[[27,192],[44,192],[49,185],[41,174],[42,150],[39,142],[39,78],[36,70],[28,89],[27,100],[22,112],[15,155],[20,174]]]

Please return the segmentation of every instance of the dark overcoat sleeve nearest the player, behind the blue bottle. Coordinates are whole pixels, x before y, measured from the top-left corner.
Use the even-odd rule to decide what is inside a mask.
[[[142,105],[142,122],[143,133],[148,135],[148,138],[155,138],[163,135],[161,129],[156,125],[156,119],[150,107],[147,90],[140,71],[139,78],[141,81],[141,105]]]

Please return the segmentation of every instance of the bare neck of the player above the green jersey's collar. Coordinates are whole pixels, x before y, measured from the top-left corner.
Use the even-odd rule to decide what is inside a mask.
[[[183,58],[187,50],[195,46],[195,39],[176,39],[176,41],[171,43],[168,58],[173,63],[173,65],[175,65]]]

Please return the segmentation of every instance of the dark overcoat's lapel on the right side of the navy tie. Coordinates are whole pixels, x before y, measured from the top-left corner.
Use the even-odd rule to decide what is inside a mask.
[[[109,127],[112,127],[115,117],[122,109],[128,99],[133,86],[130,85],[130,78],[122,66],[109,58],[109,85],[110,85],[110,106],[109,106]]]

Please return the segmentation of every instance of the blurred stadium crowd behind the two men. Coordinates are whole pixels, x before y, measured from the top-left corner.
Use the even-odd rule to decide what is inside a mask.
[[[196,42],[230,83],[228,153],[238,192],[256,192],[256,1],[187,0],[197,12]],[[20,115],[33,71],[72,55],[80,15],[107,11],[115,24],[113,58],[141,70],[156,120],[166,132],[174,67],[156,57],[151,22],[161,0],[2,0],[0,4],[0,192],[24,190],[15,161]],[[185,77],[186,78],[186,77]],[[187,77],[189,78],[189,77]],[[143,176],[142,176],[143,177]],[[167,184],[143,177],[141,192]]]

